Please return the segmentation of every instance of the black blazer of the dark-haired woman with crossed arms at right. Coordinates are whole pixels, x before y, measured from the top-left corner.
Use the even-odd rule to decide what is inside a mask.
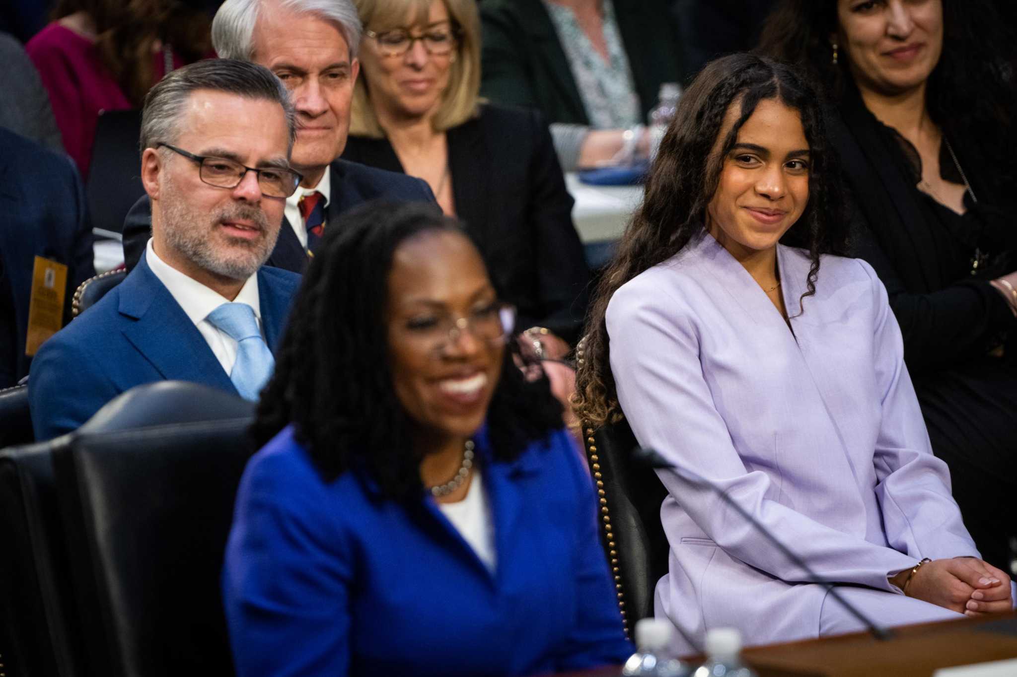
[[[1017,322],[989,280],[970,275],[974,247],[948,244],[935,230],[924,198],[901,170],[894,141],[856,90],[848,89],[830,120],[852,198],[852,254],[868,260],[887,288],[908,368],[915,374],[983,356],[986,343]],[[992,205],[1004,202],[983,180],[978,153],[961,143],[954,149],[979,197],[978,209],[984,219],[998,220]],[[1010,242],[991,249],[1017,253],[1013,229],[1000,230],[1011,231]]]

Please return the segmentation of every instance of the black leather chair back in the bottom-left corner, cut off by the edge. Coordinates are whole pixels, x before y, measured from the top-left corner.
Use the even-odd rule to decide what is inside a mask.
[[[76,677],[80,637],[51,442],[0,451],[0,673]]]

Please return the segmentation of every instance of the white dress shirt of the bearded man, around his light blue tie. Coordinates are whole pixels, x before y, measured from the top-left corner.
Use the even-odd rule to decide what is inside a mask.
[[[187,317],[194,322],[194,326],[201,332],[201,336],[204,337],[208,348],[216,355],[219,364],[223,365],[223,369],[229,374],[233,371],[233,363],[237,361],[237,342],[205,318],[219,306],[230,303],[230,300],[193,278],[188,278],[159,258],[156,250],[152,247],[152,239],[148,240],[144,256],[153,273],[159,278],[159,282],[166,286],[176,302],[187,313]],[[261,301],[257,292],[256,272],[247,279],[234,302],[246,303],[254,309],[254,317],[257,318],[257,326],[261,329],[263,337],[264,327],[261,325]]]

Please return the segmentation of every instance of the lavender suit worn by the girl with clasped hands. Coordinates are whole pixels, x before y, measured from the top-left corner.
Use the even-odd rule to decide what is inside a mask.
[[[618,401],[640,444],[729,491],[819,575],[893,603],[888,575],[978,552],[872,267],[824,256],[799,314],[809,258],[778,246],[777,261],[793,334],[709,235],[622,286],[607,309]],[[659,475],[671,552],[655,606],[678,649],[717,626],[749,644],[817,636],[838,611],[826,591],[715,495]]]

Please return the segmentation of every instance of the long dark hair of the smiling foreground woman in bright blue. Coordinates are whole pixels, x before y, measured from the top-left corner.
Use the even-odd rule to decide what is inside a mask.
[[[429,231],[467,237],[459,222],[422,202],[368,202],[328,225],[261,393],[251,429],[258,445],[292,423],[325,481],[359,468],[391,498],[422,490],[414,427],[388,368],[384,312],[393,255]],[[561,427],[561,406],[546,378],[528,382],[504,353],[487,430],[494,456],[512,459]]]

